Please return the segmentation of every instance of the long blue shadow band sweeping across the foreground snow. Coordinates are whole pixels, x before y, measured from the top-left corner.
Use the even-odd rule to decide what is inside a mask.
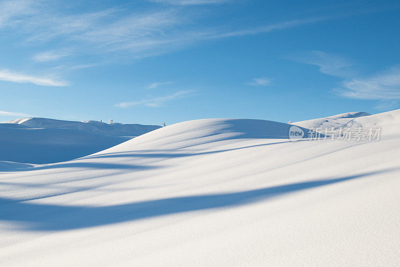
[[[227,208],[266,200],[290,192],[368,176],[387,169],[334,179],[290,183],[233,193],[172,197],[109,206],[63,206],[0,198],[0,221],[12,221],[25,230],[67,230],[180,212]]]

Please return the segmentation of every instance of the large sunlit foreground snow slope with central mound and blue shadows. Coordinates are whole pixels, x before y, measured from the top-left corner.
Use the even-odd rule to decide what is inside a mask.
[[[379,121],[398,125],[390,116]],[[186,121],[10,164],[0,265],[399,265],[397,133],[292,142],[288,127]]]

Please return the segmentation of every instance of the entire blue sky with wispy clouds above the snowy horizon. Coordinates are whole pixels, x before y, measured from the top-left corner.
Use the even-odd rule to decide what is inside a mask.
[[[0,0],[0,120],[400,108],[400,3]]]

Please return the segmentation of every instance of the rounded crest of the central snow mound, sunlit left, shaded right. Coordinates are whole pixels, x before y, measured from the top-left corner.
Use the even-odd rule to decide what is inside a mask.
[[[231,142],[235,139],[288,139],[290,127],[287,123],[262,119],[197,119],[162,127],[112,149],[124,150],[136,144],[178,149],[199,144],[212,145],[215,141]],[[304,131],[303,137],[307,138],[310,130],[301,129]]]

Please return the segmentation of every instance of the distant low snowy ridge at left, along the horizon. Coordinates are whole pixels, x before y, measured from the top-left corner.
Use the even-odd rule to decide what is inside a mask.
[[[108,124],[97,120],[70,121],[42,117],[17,118],[1,123],[19,124],[30,128],[77,129],[107,136],[139,136],[161,127],[159,125],[122,124],[116,122]]]

